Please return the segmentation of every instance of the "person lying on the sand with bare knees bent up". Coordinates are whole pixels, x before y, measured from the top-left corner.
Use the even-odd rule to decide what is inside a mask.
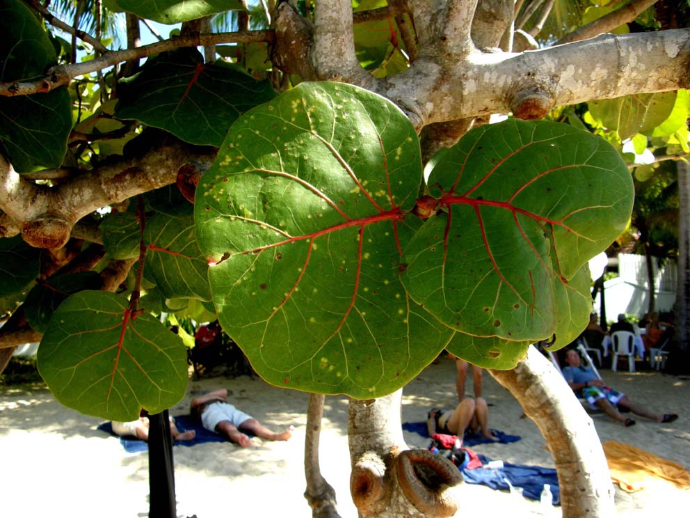
[[[426,415],[426,428],[429,437],[433,434],[457,435],[462,439],[466,430],[474,434],[481,432],[482,437],[499,441],[489,429],[489,407],[484,398],[463,398],[454,411],[443,411],[433,408]]]

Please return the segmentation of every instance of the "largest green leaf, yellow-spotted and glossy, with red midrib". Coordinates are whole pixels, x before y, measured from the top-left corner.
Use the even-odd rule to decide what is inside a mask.
[[[355,86],[303,83],[232,125],[195,221],[220,324],[259,375],[374,398],[438,355],[451,331],[398,277],[421,184],[410,120]]]

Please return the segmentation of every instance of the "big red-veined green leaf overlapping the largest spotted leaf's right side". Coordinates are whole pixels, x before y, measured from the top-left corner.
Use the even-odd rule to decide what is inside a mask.
[[[463,136],[428,183],[442,210],[403,253],[412,299],[474,336],[533,342],[575,332],[557,323],[572,297],[566,285],[632,210],[618,152],[568,125],[506,120]]]

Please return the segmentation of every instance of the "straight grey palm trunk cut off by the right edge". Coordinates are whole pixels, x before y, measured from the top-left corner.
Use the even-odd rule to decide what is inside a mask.
[[[683,372],[690,370],[690,166],[678,161],[678,288],[675,292],[675,341]]]

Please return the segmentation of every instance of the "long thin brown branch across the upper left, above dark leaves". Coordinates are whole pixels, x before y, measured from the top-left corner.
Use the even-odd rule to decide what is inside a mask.
[[[32,93],[47,93],[58,86],[70,84],[74,77],[90,74],[97,70],[103,70],[112,65],[145,58],[160,52],[168,52],[183,47],[200,47],[206,45],[219,45],[222,43],[251,43],[269,42],[273,44],[275,33],[273,31],[248,31],[239,33],[199,34],[193,36],[178,36],[161,42],[125,49],[107,51],[99,58],[72,65],[56,65],[46,72],[42,79],[36,81],[9,81],[0,82],[0,95],[13,97],[14,95],[29,95]]]

